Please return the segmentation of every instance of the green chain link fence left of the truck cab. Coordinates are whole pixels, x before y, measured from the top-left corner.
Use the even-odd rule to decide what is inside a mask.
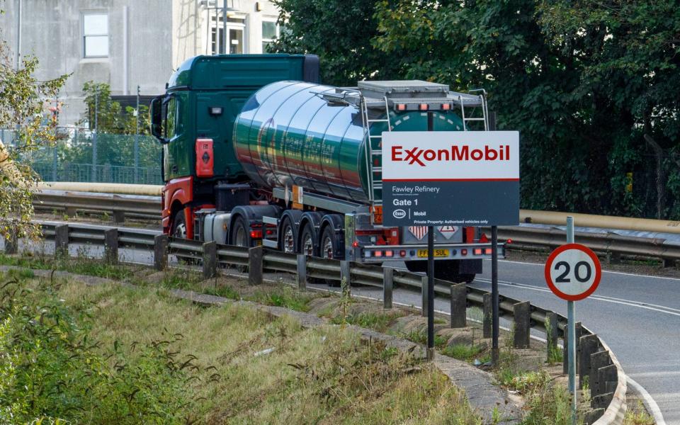
[[[60,129],[54,145],[22,154],[43,181],[162,184],[162,146],[152,136]],[[8,145],[11,130],[0,130]]]

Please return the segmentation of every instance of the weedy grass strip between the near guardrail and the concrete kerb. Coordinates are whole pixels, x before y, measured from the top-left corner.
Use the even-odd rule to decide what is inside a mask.
[[[84,255],[77,259],[57,259],[53,261],[50,256],[4,256],[0,254],[0,264],[23,266],[30,268],[56,268],[67,270],[73,273],[81,273],[91,276],[104,278],[123,279],[136,285],[146,286],[147,288],[157,288],[158,286],[168,289],[197,290],[212,295],[232,299],[243,299],[259,302],[266,305],[276,305],[292,310],[307,312],[310,310],[312,301],[325,297],[319,293],[303,293],[289,285],[263,285],[262,287],[250,287],[243,285],[237,280],[220,280],[218,283],[202,281],[200,273],[196,271],[171,270],[165,273],[149,274],[149,269],[145,267],[112,266],[99,261],[91,261]],[[30,272],[27,274],[30,277]],[[356,309],[358,304],[365,301],[358,301],[351,297],[340,297],[334,303],[327,304],[322,310],[317,310],[316,314],[320,317],[327,317],[333,324],[355,324],[359,327],[375,329],[377,331],[395,334],[396,336],[411,341],[426,344],[426,333],[424,329],[404,331],[394,331],[392,325],[395,320],[406,314],[407,311],[395,309],[385,311],[382,309]],[[481,314],[481,313],[480,313]],[[437,324],[445,323],[441,319],[436,319]],[[473,333],[474,335],[474,333]],[[478,334],[479,335],[479,334]],[[481,335],[480,335],[481,336]],[[462,361],[472,363],[487,363],[491,359],[489,347],[481,337],[472,343],[451,344],[445,337],[437,335],[435,339],[436,348],[446,356],[457,358]],[[505,335],[506,344],[501,351],[501,363],[499,368],[492,370],[494,377],[502,387],[516,391],[523,396],[526,401],[526,415],[523,424],[526,425],[553,425],[570,424],[570,395],[565,385],[557,382],[543,369],[543,366],[536,368],[528,366],[521,361],[519,354],[511,346],[511,335]],[[546,366],[559,364],[562,361],[562,351],[551,350],[551,356]],[[644,412],[644,409],[630,409],[626,415],[625,424],[648,425],[654,421]]]

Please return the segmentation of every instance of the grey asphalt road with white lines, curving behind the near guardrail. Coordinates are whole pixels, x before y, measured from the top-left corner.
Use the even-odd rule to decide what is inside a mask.
[[[52,251],[51,244],[45,251]],[[35,248],[35,247],[34,247]],[[77,246],[71,246],[72,254]],[[92,249],[96,256],[98,249]],[[124,249],[125,261],[152,263],[152,254]],[[395,265],[398,266],[398,265]],[[403,263],[402,263],[403,267]],[[490,290],[491,263],[472,283]],[[555,297],[543,279],[543,265],[499,261],[502,295],[529,300],[533,305],[567,314],[567,302]],[[577,302],[577,320],[606,341],[625,373],[650,393],[666,424],[680,425],[680,279],[604,271],[594,295]],[[380,298],[375,288],[353,293]],[[419,306],[419,293],[395,290],[395,302]],[[448,312],[448,302],[437,300],[436,310]],[[503,322],[502,322],[503,325]]]

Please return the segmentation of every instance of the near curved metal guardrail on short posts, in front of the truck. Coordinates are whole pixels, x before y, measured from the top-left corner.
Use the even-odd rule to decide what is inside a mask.
[[[42,225],[43,237],[55,241],[55,251],[67,249],[69,243],[72,242],[96,246],[103,245],[104,258],[109,259],[109,261],[111,261],[111,256],[108,256],[107,252],[115,252],[113,261],[118,261],[118,248],[133,248],[145,251],[153,250],[154,263],[157,268],[165,267],[169,254],[184,259],[201,259],[204,276],[212,276],[217,273],[217,264],[219,264],[221,266],[248,266],[249,280],[254,278],[254,281],[259,282],[261,282],[263,271],[295,273],[298,285],[301,288],[306,286],[309,279],[336,281],[346,279],[350,285],[371,285],[383,288],[386,304],[388,297],[386,291],[388,289],[390,290],[390,304],[392,302],[392,284],[420,289],[421,293],[426,292],[423,290],[424,276],[403,270],[391,269],[389,273],[386,273],[385,268],[380,266],[320,259],[302,254],[285,254],[261,246],[248,248],[218,245],[215,242],[203,243],[188,239],[177,239],[145,229],[117,229],[115,227],[106,228],[82,224],[57,225],[50,222],[40,222],[40,224]],[[527,234],[536,233],[528,232]],[[552,234],[550,235],[552,237]],[[516,233],[511,234],[511,236],[513,238],[518,237]],[[579,237],[579,239],[581,238]],[[557,244],[557,235],[555,235],[554,240]],[[553,239],[548,239],[548,241],[553,241]],[[8,246],[16,250],[16,243],[6,244],[6,249]],[[212,271],[209,270],[210,267],[212,267]],[[208,273],[212,273],[212,275]],[[465,290],[457,290],[460,288]],[[490,334],[490,293],[472,288],[465,283],[452,285],[445,280],[435,280],[434,293],[436,297],[450,299],[452,306],[455,304],[465,305],[466,307],[480,307],[485,317],[484,327],[488,326],[487,329]],[[454,299],[457,293],[463,294],[463,300]],[[518,308],[519,305],[528,307],[528,309]],[[464,324],[465,309],[462,310]],[[526,341],[528,341],[531,328],[544,332],[546,339],[553,344],[553,347],[557,346],[558,337],[564,340],[567,319],[560,314],[502,295],[499,296],[499,312],[501,316],[508,317],[514,322],[514,334],[523,334],[520,336],[526,338]],[[452,326],[453,316],[460,314],[460,311],[454,311],[452,308]],[[554,319],[554,323],[550,323],[551,317]],[[487,329],[485,329],[485,334]],[[604,341],[595,336],[589,329],[585,327],[580,329],[579,347],[577,347],[577,359],[579,359],[577,371],[581,376],[589,376],[591,406],[593,407],[593,410],[587,414],[585,419],[589,424],[621,424],[626,409],[626,381],[623,369]]]

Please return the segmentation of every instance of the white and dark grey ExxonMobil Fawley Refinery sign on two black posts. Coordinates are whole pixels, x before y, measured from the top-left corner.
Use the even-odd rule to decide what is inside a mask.
[[[492,337],[497,364],[497,226],[519,223],[519,132],[435,132],[433,115],[427,115],[429,131],[382,133],[382,224],[427,228],[427,305],[423,310],[428,317],[430,359],[434,353],[434,227],[453,233],[461,226],[492,226]],[[442,236],[447,237],[444,232]]]

